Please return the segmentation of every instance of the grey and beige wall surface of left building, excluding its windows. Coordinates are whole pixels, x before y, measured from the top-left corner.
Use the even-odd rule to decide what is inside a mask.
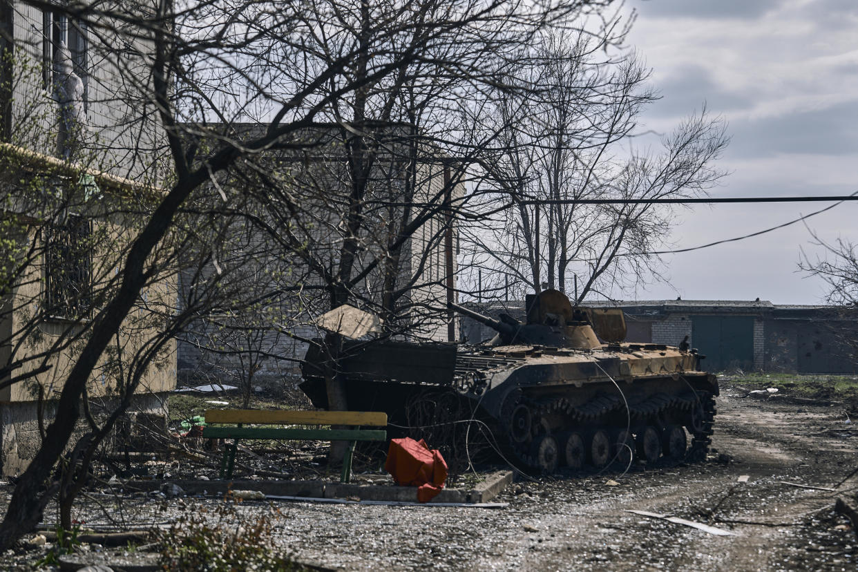
[[[141,3],[134,5],[142,6]],[[9,142],[39,154],[56,156],[59,152],[59,107],[52,88],[45,86],[42,76],[42,27],[41,9],[14,2],[15,83],[12,86]],[[95,34],[90,34],[86,101],[88,125],[82,145],[72,160],[97,172],[158,184],[166,174],[160,162],[164,139],[149,98],[138,86],[138,82],[147,81],[148,74],[145,73],[141,55],[151,53],[152,44],[145,39],[120,39],[103,30],[101,35],[102,40],[98,40]],[[124,46],[124,50],[118,50],[117,46]],[[73,186],[76,181],[65,175],[57,175],[53,168],[44,166],[49,164],[50,161],[38,160],[33,161],[33,165],[42,166],[33,167],[25,162],[27,168],[13,173],[15,178],[3,182],[3,192],[9,192],[9,196],[15,198],[16,205],[26,206],[33,200],[47,202],[44,196],[36,199],[27,196],[27,192],[32,193],[33,189],[39,187],[30,183],[45,178],[49,184],[39,190],[45,190],[50,185],[50,190],[57,191],[57,199],[60,196],[63,200],[68,198],[69,186]],[[126,190],[138,192],[130,188]],[[105,242],[94,245],[92,249],[92,274],[93,284],[105,288],[110,287],[127,240],[134,236],[141,222],[140,216],[128,214],[129,204],[141,206],[147,202],[145,199],[129,201],[127,194],[117,196],[114,191],[102,188],[100,196],[94,193],[96,199],[69,199],[64,209],[87,217],[94,226],[94,234],[97,232],[100,239],[104,239]],[[145,208],[142,210],[145,211]],[[21,208],[21,213],[29,217],[38,218],[40,212],[43,211]],[[51,213],[51,210],[46,212]],[[32,224],[31,228],[35,230],[22,234],[28,244],[39,247],[41,221],[33,220]],[[49,424],[54,413],[52,407],[56,406],[56,401],[51,400],[51,397],[62,390],[65,377],[82,348],[81,340],[62,351],[53,346],[57,340],[67,340],[79,333],[82,321],[44,316],[44,267],[44,257],[37,256],[27,267],[27,274],[18,280],[13,294],[4,300],[14,304],[15,311],[6,311],[0,316],[0,340],[6,342],[5,346],[0,347],[0,359],[3,360],[0,363],[24,360],[25,365],[15,370],[15,375],[21,375],[28,368],[40,364],[32,359],[33,356],[39,356],[39,352],[48,352],[46,364],[51,366],[26,382],[16,383],[0,391],[0,470],[3,474],[15,474],[23,470],[39,449],[41,437],[36,421],[36,396],[39,389],[44,391],[47,398],[44,419],[45,424]],[[124,322],[124,330],[118,335],[116,343],[125,356],[133,355],[156,333],[152,324],[162,323],[162,320],[158,321],[158,316],[163,316],[158,312],[172,310],[175,284],[170,279],[158,281],[145,288],[142,297],[144,302],[130,312]],[[154,313],[151,313],[153,308]],[[34,325],[31,326],[29,322]],[[14,355],[10,349],[12,346],[16,348]],[[115,349],[112,347],[111,351]],[[117,393],[118,379],[107,364],[110,359],[108,353],[88,381],[88,392],[94,400],[94,407],[98,405],[95,400],[99,398],[103,399],[103,405],[115,405],[115,397],[112,396]],[[175,387],[175,358],[175,346],[168,343],[164,352],[143,375],[140,393],[135,396],[132,409],[136,407],[137,412],[165,412],[166,392]]]

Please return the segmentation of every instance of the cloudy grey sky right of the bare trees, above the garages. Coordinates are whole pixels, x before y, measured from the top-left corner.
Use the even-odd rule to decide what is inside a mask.
[[[828,196],[858,191],[858,0],[628,0],[629,44],[662,99],[646,129],[669,132],[705,102],[728,121],[713,196]],[[829,203],[698,205],[680,214],[678,248],[763,230]],[[858,202],[807,220],[820,238],[858,241]],[[798,271],[799,223],[762,237],[666,256],[669,285],[638,299],[754,299],[819,304],[825,285]],[[619,298],[633,298],[630,294]]]

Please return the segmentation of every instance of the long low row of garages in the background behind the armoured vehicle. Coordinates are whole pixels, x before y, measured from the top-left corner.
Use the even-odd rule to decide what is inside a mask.
[[[497,316],[524,316],[523,303],[483,304]],[[651,300],[617,304],[625,314],[626,341],[679,346],[687,343],[706,356],[704,368],[796,373],[853,374],[855,307],[778,305],[765,300]],[[476,305],[474,304],[474,307]],[[462,339],[476,343],[492,331],[462,320]]]

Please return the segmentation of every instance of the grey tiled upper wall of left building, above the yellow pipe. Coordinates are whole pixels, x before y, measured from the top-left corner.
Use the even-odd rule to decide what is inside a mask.
[[[42,9],[22,2],[14,4],[15,66],[27,73],[16,74],[11,142],[57,154],[59,108],[41,73]],[[143,9],[145,4],[129,6]],[[123,27],[120,22],[116,24]],[[169,172],[165,140],[148,90],[138,85],[148,81],[144,56],[152,52],[153,43],[106,29],[100,29],[99,35],[101,39],[88,34],[88,128],[76,160],[136,181],[163,180]]]

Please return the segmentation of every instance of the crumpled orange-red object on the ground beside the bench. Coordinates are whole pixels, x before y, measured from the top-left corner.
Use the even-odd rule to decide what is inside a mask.
[[[391,439],[384,470],[397,485],[416,486],[417,500],[428,503],[444,488],[447,463],[438,449],[429,449],[423,439]]]

